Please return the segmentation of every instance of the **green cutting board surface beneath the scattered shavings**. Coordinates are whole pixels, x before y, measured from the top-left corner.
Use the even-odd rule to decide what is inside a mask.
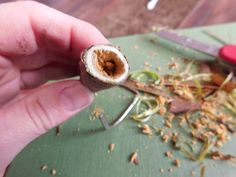
[[[217,42],[203,33],[208,30],[221,36],[228,43],[236,43],[236,24],[226,24],[180,32],[208,43]],[[209,59],[191,50],[183,49],[158,39],[154,34],[134,35],[111,39],[121,46],[131,66],[131,70],[143,69],[148,62],[155,69],[162,68],[160,74],[171,72],[167,64],[172,57]],[[162,143],[159,136],[151,138],[138,132],[137,123],[129,117],[118,127],[104,130],[99,120],[89,119],[91,111],[102,107],[105,115],[112,122],[132,99],[132,94],[121,88],[98,93],[94,103],[86,110],[65,122],[59,136],[55,129],[29,144],[11,164],[7,177],[50,177],[51,169],[61,177],[189,177],[191,172],[200,176],[200,164],[187,159],[176,151],[174,157],[181,160],[181,167],[174,167],[164,152],[172,151],[168,143]],[[55,117],[56,119],[56,117]],[[162,126],[163,119],[153,118],[157,126]],[[115,150],[108,153],[108,145],[115,144]],[[132,152],[138,151],[140,164],[129,163]],[[225,153],[236,155],[236,138],[222,148]],[[227,162],[206,160],[206,177],[235,177],[236,167]],[[42,165],[48,170],[42,171]],[[164,169],[164,173],[160,169]],[[168,172],[173,168],[173,172]]]

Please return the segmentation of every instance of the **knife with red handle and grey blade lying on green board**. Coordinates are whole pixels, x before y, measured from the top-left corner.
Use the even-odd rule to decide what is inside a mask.
[[[236,64],[236,45],[224,45],[219,47],[216,45],[206,44],[168,30],[162,30],[156,34],[166,40],[173,41],[182,46],[216,57],[220,63],[223,62],[228,66]]]

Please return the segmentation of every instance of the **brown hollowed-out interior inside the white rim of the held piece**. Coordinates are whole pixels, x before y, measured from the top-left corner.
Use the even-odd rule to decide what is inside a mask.
[[[112,51],[96,50],[95,64],[104,76],[118,78],[125,72],[123,61]]]

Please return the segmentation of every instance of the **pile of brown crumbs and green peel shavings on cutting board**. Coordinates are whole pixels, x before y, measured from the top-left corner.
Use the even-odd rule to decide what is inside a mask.
[[[206,63],[192,61],[184,71],[178,68],[176,73],[164,76],[151,70],[133,72],[123,87],[139,93],[140,100],[131,118],[145,122],[140,126],[142,133],[154,135],[151,120],[161,116],[163,127],[155,128],[157,135],[163,142],[170,141],[172,147],[187,158],[198,162],[208,157],[235,162],[234,156],[218,151],[236,132],[236,77],[233,72],[216,72]],[[175,132],[176,126],[180,126],[185,135]],[[171,152],[165,155],[173,159]],[[180,167],[180,160],[172,163]],[[202,166],[201,176],[204,174],[205,166]]]

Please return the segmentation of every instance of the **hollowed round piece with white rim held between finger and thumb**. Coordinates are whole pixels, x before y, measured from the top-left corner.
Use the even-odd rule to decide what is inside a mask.
[[[80,79],[93,92],[123,83],[129,73],[125,56],[112,45],[94,45],[82,53]]]

